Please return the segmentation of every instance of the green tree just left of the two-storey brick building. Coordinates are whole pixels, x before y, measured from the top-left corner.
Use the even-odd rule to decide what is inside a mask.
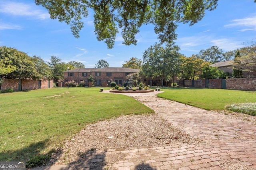
[[[59,80],[63,80],[63,71],[67,70],[67,65],[61,61],[60,58],[56,56],[51,56],[50,62],[47,62],[52,70],[52,76],[54,83],[57,83]]]

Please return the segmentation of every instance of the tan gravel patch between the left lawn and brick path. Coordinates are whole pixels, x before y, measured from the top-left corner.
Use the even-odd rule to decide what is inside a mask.
[[[52,163],[74,162],[90,150],[126,150],[171,143],[201,145],[204,142],[172,127],[156,114],[126,115],[88,125],[73,139],[66,140],[62,151],[52,156]]]

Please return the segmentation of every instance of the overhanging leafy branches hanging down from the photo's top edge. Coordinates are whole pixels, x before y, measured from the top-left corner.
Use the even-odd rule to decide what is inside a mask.
[[[190,26],[200,21],[206,10],[214,10],[218,0],[35,0],[50,14],[71,26],[78,38],[84,27],[82,20],[88,8],[94,11],[94,27],[98,41],[113,48],[118,28],[122,29],[125,45],[136,45],[135,35],[142,25],[153,24],[160,42],[172,42],[178,23]]]

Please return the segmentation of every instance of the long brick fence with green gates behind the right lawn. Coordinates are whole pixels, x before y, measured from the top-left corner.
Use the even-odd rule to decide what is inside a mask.
[[[256,78],[228,78],[208,80],[179,80],[179,86],[195,88],[222,88],[256,91]]]

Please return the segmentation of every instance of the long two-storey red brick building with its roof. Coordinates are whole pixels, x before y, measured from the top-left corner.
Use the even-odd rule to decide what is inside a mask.
[[[93,76],[95,86],[101,86],[102,82],[114,81],[118,85],[123,85],[126,82],[126,76],[131,73],[139,72],[140,69],[135,68],[122,68],[122,67],[106,67],[106,68],[76,68],[73,70],[64,71],[64,82],[84,81],[88,86],[88,77]],[[69,74],[69,75],[68,75]]]

